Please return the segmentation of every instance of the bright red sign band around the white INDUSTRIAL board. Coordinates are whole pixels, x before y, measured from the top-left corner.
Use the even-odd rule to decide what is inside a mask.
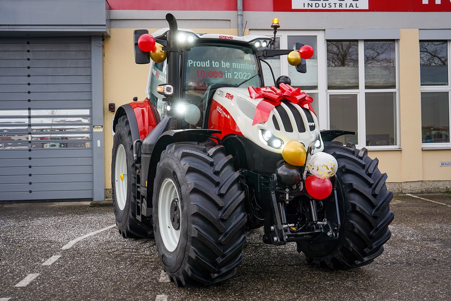
[[[451,0],[273,0],[275,12],[451,12]]]

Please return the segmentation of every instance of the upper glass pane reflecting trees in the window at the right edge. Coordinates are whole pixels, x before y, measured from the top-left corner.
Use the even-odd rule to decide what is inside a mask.
[[[448,85],[447,41],[420,41],[422,86]]]

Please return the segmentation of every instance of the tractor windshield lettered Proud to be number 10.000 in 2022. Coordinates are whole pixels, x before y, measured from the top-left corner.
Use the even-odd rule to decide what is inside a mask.
[[[254,50],[247,46],[209,44],[192,47],[185,54],[183,92],[195,105],[204,100],[213,84],[260,87]]]

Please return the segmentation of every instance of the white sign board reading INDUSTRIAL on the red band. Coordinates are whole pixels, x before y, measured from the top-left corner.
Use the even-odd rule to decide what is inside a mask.
[[[367,10],[368,0],[292,0],[293,10]]]

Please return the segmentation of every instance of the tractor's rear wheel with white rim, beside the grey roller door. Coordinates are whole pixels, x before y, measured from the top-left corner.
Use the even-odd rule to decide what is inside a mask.
[[[116,225],[123,237],[152,237],[153,228],[136,219],[136,169],[127,116],[119,118],[113,137],[111,188]]]

